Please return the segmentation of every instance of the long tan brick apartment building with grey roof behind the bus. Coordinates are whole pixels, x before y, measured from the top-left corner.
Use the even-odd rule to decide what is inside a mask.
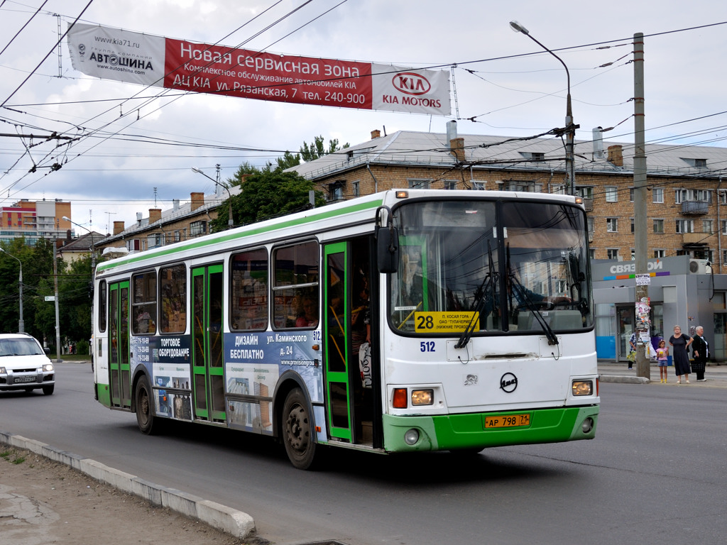
[[[601,132],[575,145],[576,193],[585,198],[592,259],[634,254],[632,143],[603,149]],[[648,258],[688,255],[727,271],[727,149],[646,145]],[[375,130],[371,140],[293,167],[329,201],[393,187],[570,193],[558,138]]]

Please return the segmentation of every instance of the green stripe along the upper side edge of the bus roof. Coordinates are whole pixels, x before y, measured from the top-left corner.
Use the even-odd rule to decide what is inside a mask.
[[[268,233],[271,231],[275,231],[278,229],[284,229],[286,227],[297,227],[300,225],[306,225],[311,222],[318,222],[321,221],[321,219],[330,219],[333,217],[342,216],[344,214],[351,214],[353,212],[358,212],[361,210],[366,209],[372,209],[377,208],[381,206],[381,203],[383,201],[381,199],[377,199],[376,201],[365,201],[363,203],[356,203],[351,206],[345,206],[345,208],[342,209],[335,209],[335,210],[328,210],[325,209],[321,211],[319,214],[315,214],[313,216],[308,216],[300,219],[286,219],[281,221],[280,223],[276,223],[275,225],[266,225],[264,227],[255,226],[254,224],[251,225],[248,229],[240,230],[242,227],[238,227],[233,233],[225,234],[222,236],[215,236],[215,237],[202,237],[197,239],[196,241],[189,242],[189,243],[182,243],[180,246],[175,246],[174,248],[169,249],[160,249],[160,250],[150,250],[145,251],[140,254],[134,254],[133,256],[127,257],[127,258],[119,258],[119,261],[115,261],[113,263],[102,263],[97,267],[97,270],[103,271],[107,269],[111,269],[113,267],[119,267],[120,265],[129,265],[131,263],[136,262],[142,262],[145,259],[152,259],[155,257],[164,257],[167,255],[176,254],[180,251],[185,250],[194,250],[194,249],[201,249],[205,246],[210,246],[212,244],[217,244],[220,242],[229,242],[229,241],[235,241],[238,238],[244,238],[246,236],[252,236],[252,235],[259,235],[260,233]]]

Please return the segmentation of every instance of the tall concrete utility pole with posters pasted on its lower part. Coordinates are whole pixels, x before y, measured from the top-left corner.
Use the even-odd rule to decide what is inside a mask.
[[[648,284],[638,281],[639,275],[648,274],[646,253],[646,149],[644,142],[643,108],[643,33],[634,34],[634,249],[636,252],[636,374],[651,379],[651,323],[648,321]],[[647,279],[648,277],[641,277]],[[641,310],[641,312],[639,312]],[[646,320],[644,317],[646,310]]]

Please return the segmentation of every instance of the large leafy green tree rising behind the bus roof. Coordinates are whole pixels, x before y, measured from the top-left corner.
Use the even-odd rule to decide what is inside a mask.
[[[312,181],[294,172],[268,169],[251,174],[241,184],[241,192],[232,196],[235,223],[246,225],[305,210],[310,206],[308,192],[312,189]],[[323,195],[316,191],[316,206],[325,203]],[[214,231],[227,228],[228,208],[225,201],[218,209],[217,219],[211,222]]]

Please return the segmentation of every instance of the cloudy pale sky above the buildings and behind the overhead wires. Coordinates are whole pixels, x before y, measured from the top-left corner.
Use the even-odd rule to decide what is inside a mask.
[[[153,98],[161,89],[73,70],[65,40],[59,57],[59,28],[76,18],[203,44],[451,70],[451,115],[207,94]],[[1,206],[62,198],[72,201],[74,222],[106,232],[114,221],[130,225],[137,212],[188,201],[190,192],[214,192],[192,167],[214,177],[219,164],[225,180],[241,163],[274,163],[318,135],[356,144],[373,129],[444,132],[450,119],[460,135],[524,137],[561,127],[566,70],[512,31],[511,20],[569,68],[577,140],[603,126],[614,127],[606,145],[632,142],[632,38],[643,33],[647,142],[727,147],[721,2],[0,0],[0,134],[94,134],[71,145],[0,136]],[[136,94],[145,98],[127,100]]]

